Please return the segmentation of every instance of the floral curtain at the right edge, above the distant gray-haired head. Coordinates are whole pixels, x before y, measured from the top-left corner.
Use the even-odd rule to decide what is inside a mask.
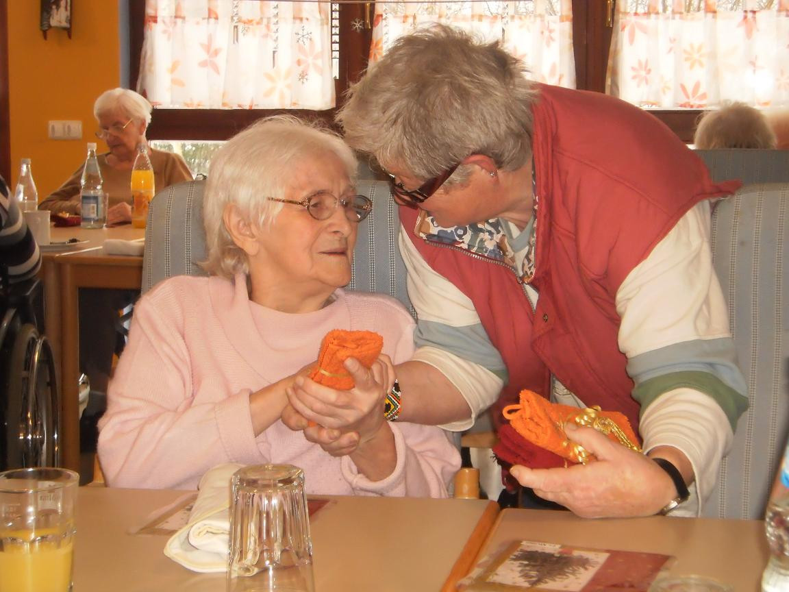
[[[641,107],[789,104],[789,0],[620,0],[608,92]]]

